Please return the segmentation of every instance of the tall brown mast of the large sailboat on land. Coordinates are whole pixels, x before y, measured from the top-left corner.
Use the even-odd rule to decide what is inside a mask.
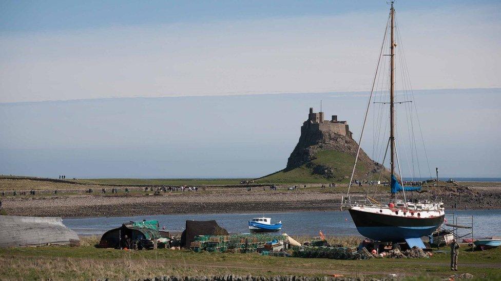
[[[390,9],[391,17],[391,45],[390,45],[390,164],[391,164],[391,175],[395,174],[395,110],[393,108],[393,95],[395,91],[395,38],[394,38],[394,23],[395,23],[395,10],[393,9],[393,2],[391,3]]]

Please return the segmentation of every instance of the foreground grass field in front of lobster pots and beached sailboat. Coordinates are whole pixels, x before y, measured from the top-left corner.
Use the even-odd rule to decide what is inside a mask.
[[[350,241],[344,241],[350,243]],[[95,238],[85,238],[80,247],[37,247],[0,249],[0,279],[126,279],[160,275],[208,276],[301,275],[349,277],[386,277],[396,273],[406,279],[443,279],[454,272],[449,254],[435,253],[431,258],[379,258],[339,261],[320,258],[271,257],[259,254],[194,253],[158,249],[124,251],[98,249]],[[501,249],[468,252],[461,249],[459,271],[477,279],[501,278]]]

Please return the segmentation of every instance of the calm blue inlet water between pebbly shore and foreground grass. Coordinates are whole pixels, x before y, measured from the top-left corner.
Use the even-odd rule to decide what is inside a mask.
[[[447,213],[452,213],[447,212]],[[475,237],[501,235],[501,210],[464,210],[454,212],[458,217],[473,215]],[[295,235],[318,235],[318,231],[326,235],[359,235],[348,211],[329,212],[294,212],[264,213],[272,218],[272,222],[282,221],[282,232]],[[64,219],[63,223],[79,234],[102,234],[108,229],[119,227],[124,222],[157,220],[160,227],[167,230],[182,231],[186,220],[216,220],[228,232],[248,232],[247,221],[262,217],[263,213],[245,214],[169,214],[146,215],[140,217]]]

